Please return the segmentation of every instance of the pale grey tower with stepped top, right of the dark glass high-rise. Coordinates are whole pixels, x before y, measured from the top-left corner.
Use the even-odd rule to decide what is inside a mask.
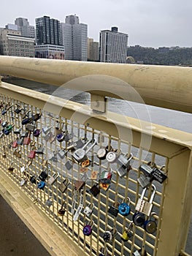
[[[88,60],[88,26],[80,23],[76,15],[66,16],[61,23],[62,44],[65,46],[65,59]]]

